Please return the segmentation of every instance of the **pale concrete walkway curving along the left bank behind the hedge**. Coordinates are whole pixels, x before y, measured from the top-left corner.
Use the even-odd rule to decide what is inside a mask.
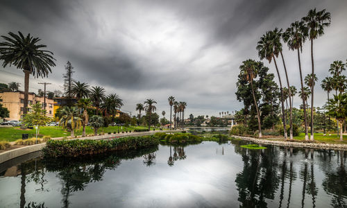
[[[149,132],[128,132],[128,133],[119,133],[119,134],[105,134],[105,135],[99,135],[99,136],[93,136],[93,137],[78,137],[76,139],[94,139],[94,140],[101,140],[101,139],[117,139],[117,138],[121,138],[121,137],[141,137],[141,136],[146,136],[146,135],[153,135],[156,132],[180,132],[182,130],[162,130],[162,131],[149,131]],[[52,139],[63,139],[64,137],[56,137],[56,138],[52,138]],[[69,139],[70,140],[70,139]],[[72,140],[72,139],[71,139]],[[42,150],[42,148],[44,148],[46,146],[46,143],[42,143],[42,144],[34,144],[31,146],[24,146],[22,148],[15,148],[12,150],[8,150],[5,151],[3,153],[0,153],[0,164],[2,164],[3,162],[6,162],[10,159],[14,159],[16,157],[20,157],[22,155],[26,155],[29,153],[34,153],[36,151],[40,151]]]

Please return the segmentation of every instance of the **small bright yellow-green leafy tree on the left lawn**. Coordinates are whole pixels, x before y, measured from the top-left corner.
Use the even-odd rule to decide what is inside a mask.
[[[46,116],[46,110],[42,109],[40,102],[31,105],[33,112],[29,112],[23,118],[26,125],[37,125],[37,134],[40,134],[40,126],[46,125],[51,118]]]

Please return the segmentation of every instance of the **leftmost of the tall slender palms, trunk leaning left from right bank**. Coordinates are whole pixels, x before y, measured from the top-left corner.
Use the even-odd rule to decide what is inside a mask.
[[[258,55],[260,57],[260,60],[263,60],[266,58],[266,60],[271,63],[271,60],[275,63],[277,75],[278,75],[278,81],[280,82],[280,94],[281,94],[281,104],[282,104],[282,122],[283,122],[283,129],[284,129],[284,135],[285,139],[287,139],[287,119],[285,114],[285,98],[283,95],[283,88],[282,88],[282,81],[280,78],[280,71],[278,71],[276,58],[278,58],[278,54],[280,53],[280,49],[278,46],[276,46],[278,39],[278,33],[274,33],[273,31],[266,32],[265,35],[260,37],[260,41],[257,42],[257,51]]]

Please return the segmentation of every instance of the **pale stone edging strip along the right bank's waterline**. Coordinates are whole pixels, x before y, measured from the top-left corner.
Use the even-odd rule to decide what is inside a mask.
[[[276,141],[269,139],[257,139],[253,137],[242,137],[230,135],[231,137],[246,141],[253,141],[256,144],[272,144],[276,146],[297,147],[297,148],[314,148],[325,150],[347,150],[347,144],[323,144],[323,143],[305,143],[298,141]]]

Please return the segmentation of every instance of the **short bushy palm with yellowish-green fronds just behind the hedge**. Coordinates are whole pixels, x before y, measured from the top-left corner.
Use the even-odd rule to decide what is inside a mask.
[[[74,131],[81,128],[82,124],[82,119],[80,117],[80,111],[78,110],[78,107],[62,107],[60,114],[61,118],[59,125],[62,126],[62,128],[71,130],[71,137],[74,137]]]

